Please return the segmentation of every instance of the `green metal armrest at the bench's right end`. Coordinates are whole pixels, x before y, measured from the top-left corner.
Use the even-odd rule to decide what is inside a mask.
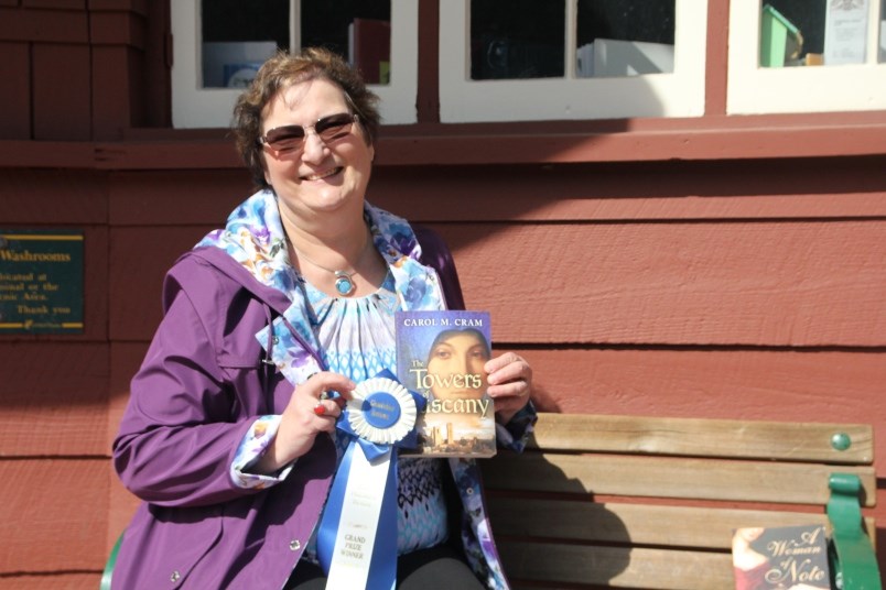
[[[832,473],[828,518],[832,526],[834,577],[842,590],[882,590],[877,556],[862,528],[862,481],[854,473]]]

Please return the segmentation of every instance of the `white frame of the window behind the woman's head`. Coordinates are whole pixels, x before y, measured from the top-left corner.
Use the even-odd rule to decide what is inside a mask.
[[[227,128],[237,97],[242,90],[202,88],[199,28],[201,0],[170,2],[173,39],[172,127],[174,129]],[[290,39],[300,45],[300,0],[290,0]],[[381,99],[379,110],[386,124],[409,124],[418,120],[419,0],[391,0],[391,77],[388,85],[368,85]]]

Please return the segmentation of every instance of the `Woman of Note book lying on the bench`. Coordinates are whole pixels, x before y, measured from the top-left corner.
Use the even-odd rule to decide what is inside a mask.
[[[831,588],[823,525],[737,528],[732,561],[736,590]]]

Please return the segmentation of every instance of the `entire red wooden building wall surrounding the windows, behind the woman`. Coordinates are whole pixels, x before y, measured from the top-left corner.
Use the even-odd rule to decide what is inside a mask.
[[[86,285],[82,336],[0,336],[2,590],[96,587],[163,273],[250,190],[223,132],[154,131],[159,4],[0,0],[0,68],[32,84],[0,109],[0,229],[83,230]],[[886,570],[886,113],[727,121],[711,79],[714,123],[389,129],[369,198],[446,238],[542,409],[874,424]]]

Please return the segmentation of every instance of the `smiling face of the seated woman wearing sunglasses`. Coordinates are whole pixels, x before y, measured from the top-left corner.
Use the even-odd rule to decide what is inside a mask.
[[[282,125],[310,128],[301,151],[262,148],[264,178],[277,193],[284,218],[310,219],[343,207],[361,215],[375,155],[363,127],[355,122],[349,132],[329,142],[321,140],[312,127],[323,117],[349,112],[342,89],[324,78],[289,86],[264,108],[262,134]]]

